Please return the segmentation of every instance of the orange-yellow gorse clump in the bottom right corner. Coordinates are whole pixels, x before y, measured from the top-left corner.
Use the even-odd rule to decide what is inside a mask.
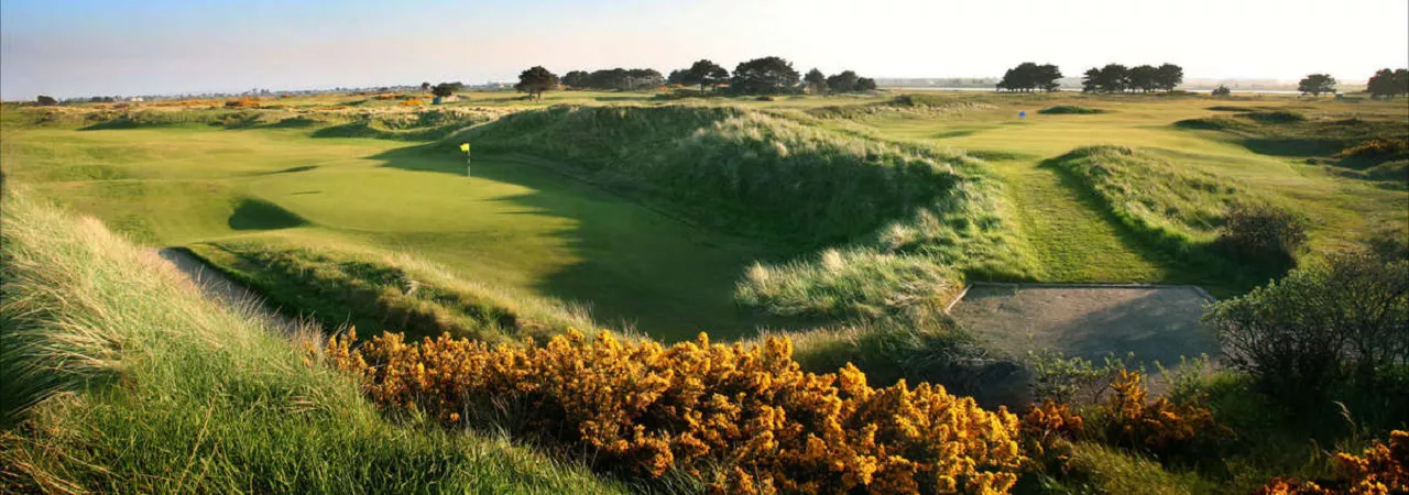
[[[1409,432],[1394,430],[1389,443],[1374,442],[1360,456],[1337,453],[1333,458],[1340,482],[1272,478],[1258,495],[1389,495],[1409,494]],[[1322,485],[1330,487],[1330,489]]]

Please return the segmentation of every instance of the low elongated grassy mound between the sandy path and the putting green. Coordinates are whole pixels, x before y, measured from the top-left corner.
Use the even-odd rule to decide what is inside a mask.
[[[278,239],[199,243],[209,264],[254,288],[290,316],[311,315],[334,330],[397,330],[413,339],[451,333],[500,342],[596,325],[579,308],[461,280],[410,256],[310,249]]]

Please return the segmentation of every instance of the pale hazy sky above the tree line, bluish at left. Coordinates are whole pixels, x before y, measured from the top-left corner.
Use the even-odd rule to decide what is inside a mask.
[[[1174,62],[1364,80],[1409,65],[1409,0],[0,0],[0,97],[510,80],[531,65],[765,55],[872,77]]]

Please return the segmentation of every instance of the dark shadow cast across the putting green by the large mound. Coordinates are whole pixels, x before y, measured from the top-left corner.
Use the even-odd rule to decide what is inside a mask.
[[[444,173],[465,180],[462,155],[418,145],[372,156],[383,167]],[[572,179],[555,165],[504,155],[476,155],[476,179],[516,184],[533,193],[493,198],[516,207],[514,215],[568,219],[552,233],[579,259],[540,278],[535,290],[592,308],[612,328],[640,328],[664,342],[709,332],[719,339],[752,336],[759,326],[812,328],[819,322],[776,318],[734,302],[734,284],[754,260],[786,255],[750,239],[689,226],[645,204]],[[459,233],[435,233],[441,240]],[[414,243],[414,240],[411,242]]]

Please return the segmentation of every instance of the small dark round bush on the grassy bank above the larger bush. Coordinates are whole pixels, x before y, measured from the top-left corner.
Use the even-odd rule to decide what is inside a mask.
[[[1264,266],[1291,266],[1306,242],[1306,221],[1262,204],[1234,204],[1223,219],[1217,243],[1229,255]]]

